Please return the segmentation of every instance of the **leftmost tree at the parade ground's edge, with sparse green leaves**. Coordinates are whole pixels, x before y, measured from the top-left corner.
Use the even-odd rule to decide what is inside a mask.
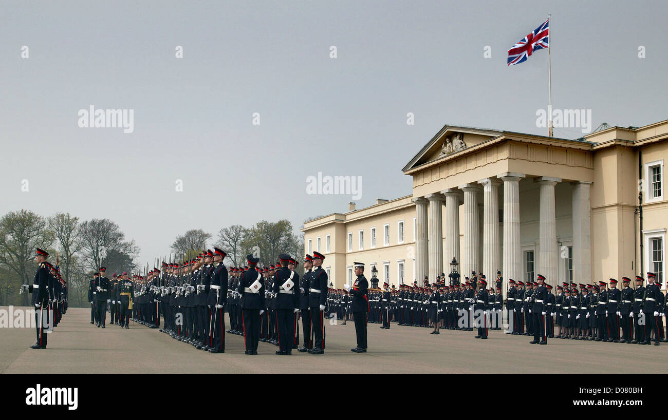
[[[35,248],[47,250],[52,242],[46,219],[29,210],[9,212],[0,219],[0,264],[16,274],[18,285],[29,284]],[[27,302],[24,295],[23,304]]]

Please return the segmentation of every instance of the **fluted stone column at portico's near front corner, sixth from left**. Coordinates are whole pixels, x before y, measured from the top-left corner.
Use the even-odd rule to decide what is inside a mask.
[[[520,179],[524,174],[505,172],[503,180],[503,295],[507,296],[508,280],[522,280],[522,248],[520,244]]]

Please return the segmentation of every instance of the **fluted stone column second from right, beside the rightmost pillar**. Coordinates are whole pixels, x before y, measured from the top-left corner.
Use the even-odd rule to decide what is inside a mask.
[[[555,284],[558,281],[556,250],[556,215],[554,207],[554,186],[561,182],[561,178],[543,176],[536,178],[540,184],[540,254],[538,255],[538,270],[536,274],[542,274],[548,283]]]

